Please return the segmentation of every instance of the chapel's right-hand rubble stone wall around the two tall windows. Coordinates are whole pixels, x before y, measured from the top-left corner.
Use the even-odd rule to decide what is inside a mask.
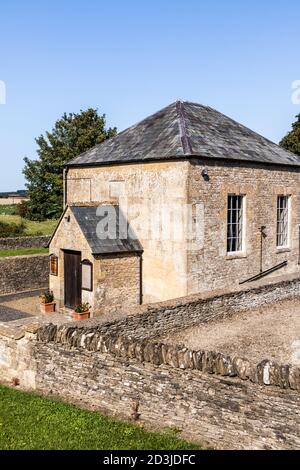
[[[205,181],[202,171],[208,170]],[[194,160],[191,162],[188,200],[204,207],[204,245],[188,251],[188,293],[234,289],[239,282],[260,272],[261,226],[263,270],[283,261],[287,267],[269,275],[299,273],[300,172],[272,165]],[[245,244],[243,253],[227,256],[227,197],[245,196]],[[277,196],[290,196],[289,247],[277,249]]]

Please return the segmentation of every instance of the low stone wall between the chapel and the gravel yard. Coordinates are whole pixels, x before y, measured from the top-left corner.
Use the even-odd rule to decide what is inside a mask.
[[[132,311],[135,315],[124,318],[118,327],[116,323],[109,325],[110,332],[132,334],[143,340],[157,340],[172,332],[184,330],[201,323],[230,318],[230,316],[251,310],[252,308],[270,305],[283,299],[299,298],[300,279],[282,281],[254,289],[244,289],[239,292],[215,295],[203,298],[193,295],[157,304],[143,305]],[[93,320],[85,322],[86,326],[97,326]]]

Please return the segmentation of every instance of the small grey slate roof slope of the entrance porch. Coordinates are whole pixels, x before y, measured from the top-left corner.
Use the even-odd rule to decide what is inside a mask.
[[[93,255],[141,253],[143,251],[140,242],[136,239],[118,206],[76,206],[70,207],[70,209]],[[109,226],[105,223],[102,227],[101,221],[104,218],[105,222],[109,221]],[[101,230],[102,228],[104,230]],[[108,230],[110,238],[107,238]]]

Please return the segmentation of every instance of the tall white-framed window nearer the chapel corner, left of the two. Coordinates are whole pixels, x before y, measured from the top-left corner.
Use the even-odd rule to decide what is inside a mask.
[[[244,201],[244,195],[228,195],[227,253],[238,253],[244,249]]]

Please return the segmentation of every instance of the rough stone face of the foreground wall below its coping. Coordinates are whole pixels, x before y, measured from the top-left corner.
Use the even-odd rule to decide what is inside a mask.
[[[297,392],[54,343],[34,354],[44,393],[127,419],[138,403],[142,422],[217,448],[300,448]]]

